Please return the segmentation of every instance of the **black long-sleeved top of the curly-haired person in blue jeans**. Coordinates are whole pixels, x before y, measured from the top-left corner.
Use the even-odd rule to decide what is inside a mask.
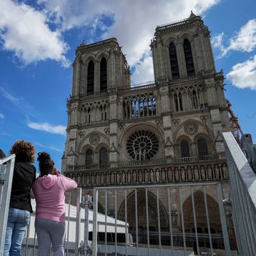
[[[12,180],[10,207],[32,211],[30,189],[36,179],[36,168],[28,162],[15,161]]]

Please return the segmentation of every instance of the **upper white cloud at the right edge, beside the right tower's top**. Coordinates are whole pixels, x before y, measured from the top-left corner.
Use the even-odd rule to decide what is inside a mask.
[[[223,44],[224,33],[212,37],[213,47],[220,49],[218,58],[222,58],[230,51],[252,52],[256,47],[256,19],[249,20],[234,36],[228,40],[228,45]]]

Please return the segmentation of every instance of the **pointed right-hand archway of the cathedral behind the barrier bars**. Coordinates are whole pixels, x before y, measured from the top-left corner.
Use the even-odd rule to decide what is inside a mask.
[[[209,222],[212,233],[221,233],[220,211],[216,200],[210,195],[206,195]],[[198,232],[207,233],[207,219],[205,214],[204,193],[201,190],[194,192],[196,226]],[[189,196],[183,203],[184,226],[185,230],[195,232],[195,224],[193,218],[192,198]]]

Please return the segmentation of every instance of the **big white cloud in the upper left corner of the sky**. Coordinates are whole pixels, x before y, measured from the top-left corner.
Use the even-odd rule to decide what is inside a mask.
[[[14,52],[24,65],[47,59],[69,65],[60,32],[49,28],[44,12],[27,4],[1,0],[0,39],[2,48]]]

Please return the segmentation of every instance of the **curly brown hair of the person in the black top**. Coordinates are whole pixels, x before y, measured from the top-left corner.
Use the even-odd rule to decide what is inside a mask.
[[[31,142],[18,140],[10,149],[10,154],[15,154],[15,161],[34,163],[36,148]]]

